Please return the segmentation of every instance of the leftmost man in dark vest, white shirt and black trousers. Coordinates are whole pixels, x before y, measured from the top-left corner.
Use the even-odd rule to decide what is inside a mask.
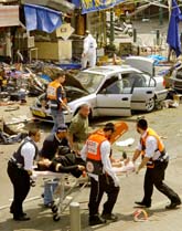
[[[33,160],[39,154],[35,143],[40,141],[40,138],[39,129],[30,129],[29,136],[22,141],[8,162],[8,175],[14,190],[10,212],[13,213],[13,219],[17,221],[30,220],[23,212],[22,203],[30,190]]]

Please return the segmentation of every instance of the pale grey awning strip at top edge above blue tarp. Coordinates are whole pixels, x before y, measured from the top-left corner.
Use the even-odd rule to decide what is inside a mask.
[[[75,9],[75,4],[66,0],[21,0],[22,4],[39,4],[47,8],[52,8],[63,13],[71,13]]]

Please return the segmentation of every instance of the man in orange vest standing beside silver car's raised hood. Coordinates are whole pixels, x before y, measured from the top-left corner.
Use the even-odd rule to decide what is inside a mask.
[[[51,82],[46,90],[46,98],[50,101],[51,115],[53,116],[54,126],[52,132],[55,133],[61,124],[64,124],[63,109],[68,109],[66,104],[66,93],[63,87],[65,82],[64,71],[60,71],[55,75],[55,80]]]

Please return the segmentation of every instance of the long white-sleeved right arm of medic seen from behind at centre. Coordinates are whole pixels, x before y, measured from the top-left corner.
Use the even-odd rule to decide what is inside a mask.
[[[115,186],[118,187],[119,180],[111,167],[110,143],[108,140],[101,143],[100,153],[101,153],[101,162],[103,162],[104,170],[113,178]]]

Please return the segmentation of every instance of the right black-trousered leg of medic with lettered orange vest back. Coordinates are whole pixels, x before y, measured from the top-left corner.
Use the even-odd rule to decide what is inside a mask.
[[[107,193],[107,201],[104,203],[103,216],[111,216],[119,193],[119,187],[115,187],[115,182],[110,176],[105,176],[105,191]]]

